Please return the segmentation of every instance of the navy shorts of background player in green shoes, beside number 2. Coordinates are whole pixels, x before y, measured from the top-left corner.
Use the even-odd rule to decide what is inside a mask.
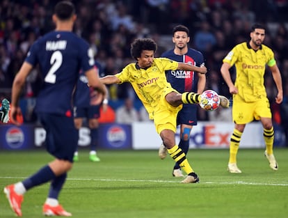
[[[100,105],[74,107],[74,118],[97,119],[100,117]]]

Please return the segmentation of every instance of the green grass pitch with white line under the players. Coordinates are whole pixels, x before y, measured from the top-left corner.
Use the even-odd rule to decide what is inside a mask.
[[[228,150],[190,150],[198,184],[172,177],[173,159],[159,159],[157,150],[99,150],[101,162],[90,162],[88,150],[68,174],[59,201],[73,217],[287,217],[288,149],[275,148],[278,171],[269,168],[263,149],[241,149],[240,174],[228,173]],[[44,151],[0,153],[0,185],[22,180],[49,162]],[[27,192],[23,217],[42,217],[48,185]],[[1,217],[15,217],[3,192]]]

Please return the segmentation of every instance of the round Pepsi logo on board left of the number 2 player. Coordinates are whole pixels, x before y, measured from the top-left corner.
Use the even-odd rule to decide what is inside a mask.
[[[6,141],[10,148],[20,148],[24,143],[24,133],[18,127],[11,127],[6,132]]]

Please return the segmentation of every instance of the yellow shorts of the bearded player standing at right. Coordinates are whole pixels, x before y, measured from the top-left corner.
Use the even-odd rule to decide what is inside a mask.
[[[268,98],[256,102],[244,102],[239,95],[233,96],[232,118],[234,123],[246,124],[261,117],[272,118]]]

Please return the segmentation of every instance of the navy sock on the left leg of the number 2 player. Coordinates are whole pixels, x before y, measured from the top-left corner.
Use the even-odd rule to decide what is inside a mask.
[[[51,168],[48,165],[46,165],[42,167],[42,169],[40,169],[33,176],[24,180],[22,183],[25,189],[29,190],[37,185],[41,185],[45,182],[53,180],[54,178],[55,178],[54,172],[51,170]]]

